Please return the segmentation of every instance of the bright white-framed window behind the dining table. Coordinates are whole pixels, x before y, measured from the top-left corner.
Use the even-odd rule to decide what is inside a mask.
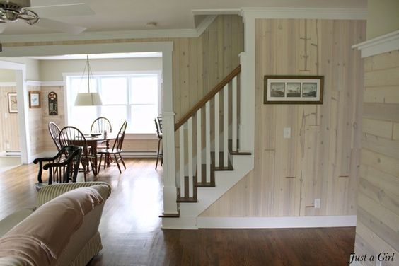
[[[155,133],[154,118],[161,113],[161,72],[93,75],[103,105],[74,106],[78,92],[87,92],[87,79],[67,75],[68,124],[89,132],[97,117],[107,117],[116,131],[127,120],[127,133]]]

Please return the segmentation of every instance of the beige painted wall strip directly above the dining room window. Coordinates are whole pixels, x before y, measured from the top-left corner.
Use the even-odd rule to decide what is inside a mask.
[[[89,57],[90,59],[90,57]],[[86,60],[40,60],[40,81],[63,81],[63,73],[82,74]],[[91,71],[162,70],[162,58],[90,59]]]

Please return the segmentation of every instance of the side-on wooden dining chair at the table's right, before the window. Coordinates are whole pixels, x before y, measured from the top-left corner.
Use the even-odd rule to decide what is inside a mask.
[[[98,163],[98,170],[101,168],[101,161],[103,160],[104,156],[104,168],[105,166],[117,166],[119,169],[119,173],[122,173],[122,170],[120,170],[120,165],[119,163],[122,162],[123,167],[125,167],[125,161],[123,161],[122,156],[120,155],[122,151],[122,144],[123,144],[123,139],[125,139],[125,132],[126,132],[126,127],[127,127],[127,121],[123,122],[122,127],[120,127],[120,130],[117,134],[117,138],[115,139],[114,145],[112,146],[112,149],[101,149],[98,151],[98,154],[100,154],[100,163]],[[112,157],[114,157],[115,161],[112,161]],[[119,156],[119,158],[117,157]],[[106,162],[106,158],[110,158],[110,162]],[[115,164],[112,164],[115,163]]]

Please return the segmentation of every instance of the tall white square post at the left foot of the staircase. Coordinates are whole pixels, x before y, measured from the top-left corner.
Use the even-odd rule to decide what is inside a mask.
[[[172,51],[162,53],[163,215],[178,214],[175,178],[175,113],[173,112]]]

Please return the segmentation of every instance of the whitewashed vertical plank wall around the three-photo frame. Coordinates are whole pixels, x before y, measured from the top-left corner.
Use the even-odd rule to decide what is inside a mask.
[[[255,168],[202,216],[356,214],[363,67],[351,46],[366,22],[257,20],[255,34]],[[324,76],[323,105],[263,104],[263,76],[277,74]]]

